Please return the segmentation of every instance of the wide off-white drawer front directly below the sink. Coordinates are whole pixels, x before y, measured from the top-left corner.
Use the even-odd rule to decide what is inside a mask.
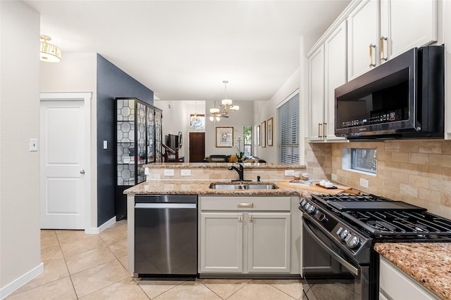
[[[290,197],[200,197],[202,211],[290,211]]]

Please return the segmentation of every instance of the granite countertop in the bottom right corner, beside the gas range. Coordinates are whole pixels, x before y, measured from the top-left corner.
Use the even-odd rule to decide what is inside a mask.
[[[451,243],[376,243],[374,249],[441,299],[451,300]]]

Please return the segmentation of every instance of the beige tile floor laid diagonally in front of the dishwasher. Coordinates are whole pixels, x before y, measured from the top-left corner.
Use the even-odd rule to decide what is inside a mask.
[[[41,230],[44,272],[6,297],[34,299],[301,299],[301,280],[142,280],[127,270],[127,223],[99,235]]]

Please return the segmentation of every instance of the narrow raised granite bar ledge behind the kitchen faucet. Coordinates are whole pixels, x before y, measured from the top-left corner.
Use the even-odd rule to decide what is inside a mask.
[[[148,168],[169,168],[169,169],[185,169],[185,168],[204,168],[204,169],[227,169],[228,166],[236,164],[234,162],[156,162],[146,164],[144,167]],[[240,162],[243,167],[250,169],[306,169],[305,166],[299,164],[276,164],[276,163],[254,163],[254,162]]]

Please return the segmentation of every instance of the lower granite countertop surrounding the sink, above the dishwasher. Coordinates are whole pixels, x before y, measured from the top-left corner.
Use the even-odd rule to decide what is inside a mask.
[[[144,181],[138,185],[128,188],[124,194],[147,194],[147,195],[302,195],[307,192],[302,188],[279,188],[273,190],[216,190],[209,188],[211,183],[239,184],[230,181],[192,181],[192,180],[156,180]],[[247,182],[251,183],[251,182]],[[277,182],[273,182],[276,183]],[[252,184],[268,184],[266,182]],[[307,195],[306,195],[307,196]]]

